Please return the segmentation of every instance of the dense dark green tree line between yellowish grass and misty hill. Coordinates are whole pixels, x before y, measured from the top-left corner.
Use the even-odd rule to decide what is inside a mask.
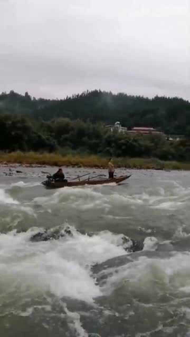
[[[116,157],[156,157],[190,161],[190,140],[168,142],[160,135],[111,132],[102,122],[69,118],[36,120],[16,114],[0,114],[1,151],[58,151]]]

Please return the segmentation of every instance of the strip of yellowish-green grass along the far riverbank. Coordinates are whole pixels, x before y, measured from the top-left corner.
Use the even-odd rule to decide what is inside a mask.
[[[61,155],[38,152],[0,152],[0,164],[21,164],[25,166],[77,166],[106,168],[109,158],[97,155]],[[156,158],[114,158],[116,167],[152,170],[190,170],[190,163],[161,161]]]

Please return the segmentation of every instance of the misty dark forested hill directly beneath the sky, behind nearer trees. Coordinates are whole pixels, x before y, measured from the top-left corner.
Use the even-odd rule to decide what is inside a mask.
[[[106,124],[120,121],[128,128],[149,126],[170,134],[190,134],[190,102],[177,97],[149,99],[94,90],[49,100],[11,90],[0,94],[0,113],[27,114],[44,121],[60,117]]]

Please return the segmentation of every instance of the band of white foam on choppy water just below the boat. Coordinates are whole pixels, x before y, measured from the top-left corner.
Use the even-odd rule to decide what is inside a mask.
[[[64,187],[54,192],[53,195],[36,197],[33,202],[44,206],[57,203],[69,204],[70,207],[85,211],[93,208],[109,210],[113,205],[117,207],[139,205],[155,209],[175,210],[185,207],[186,203],[190,201],[190,189],[182,186],[172,189],[170,193],[166,192],[163,187],[158,187],[154,190],[148,188],[141,194],[131,195],[127,193],[127,189],[122,193],[115,192],[113,189],[109,195],[103,193],[104,190],[106,191],[101,185],[99,188],[97,186]]]

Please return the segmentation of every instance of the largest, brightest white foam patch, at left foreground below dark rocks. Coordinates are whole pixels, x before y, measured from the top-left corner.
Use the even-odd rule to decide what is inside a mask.
[[[101,296],[101,290],[91,277],[90,266],[125,254],[120,236],[103,232],[89,237],[73,229],[71,238],[30,242],[31,235],[38,231],[34,228],[26,233],[12,231],[0,235],[0,273],[3,275],[0,284],[8,282],[11,287],[14,281],[18,293],[30,284],[32,288],[49,290],[60,298],[71,297],[90,303]]]

